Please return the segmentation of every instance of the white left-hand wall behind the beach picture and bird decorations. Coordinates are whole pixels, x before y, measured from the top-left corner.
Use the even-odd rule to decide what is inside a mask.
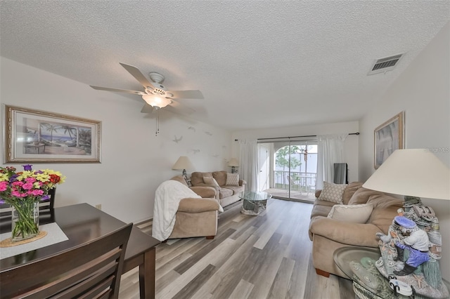
[[[181,174],[172,171],[180,156],[188,156],[196,171],[226,169],[231,154],[228,131],[165,112],[155,137],[155,119],[141,113],[139,100],[95,91],[6,58],[0,58],[0,67],[1,104],[102,121],[101,164],[34,163],[34,169],[51,168],[67,177],[58,186],[56,206],[101,204],[103,211],[124,222],[139,222],[153,216],[158,185]],[[3,118],[1,114],[2,131]],[[174,142],[175,136],[182,139]],[[21,164],[8,166],[22,169]]]

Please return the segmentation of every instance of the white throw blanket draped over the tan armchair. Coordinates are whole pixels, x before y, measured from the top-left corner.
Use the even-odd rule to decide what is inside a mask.
[[[176,180],[166,180],[156,189],[153,209],[152,236],[164,241],[174,230],[175,214],[181,199],[201,198],[189,187]]]

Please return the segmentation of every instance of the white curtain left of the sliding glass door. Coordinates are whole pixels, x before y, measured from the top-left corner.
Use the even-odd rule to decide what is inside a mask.
[[[257,140],[239,140],[240,144],[240,167],[239,178],[245,180],[245,191],[257,192],[258,178],[258,154]]]

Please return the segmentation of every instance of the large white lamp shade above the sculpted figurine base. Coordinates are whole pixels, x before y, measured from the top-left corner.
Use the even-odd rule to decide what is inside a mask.
[[[396,150],[363,187],[391,194],[450,199],[450,168],[424,149]]]

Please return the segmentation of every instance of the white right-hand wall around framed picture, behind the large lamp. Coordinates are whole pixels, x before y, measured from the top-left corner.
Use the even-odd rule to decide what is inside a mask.
[[[406,148],[423,148],[450,166],[450,59],[449,23],[435,36],[406,71],[375,100],[359,123],[359,175],[367,180],[373,168],[373,129],[395,114],[405,112]],[[380,76],[383,76],[380,74]],[[417,175],[427,175],[417,170]],[[424,186],[429,187],[429,186]],[[450,182],[449,182],[450,188]],[[450,201],[423,199],[439,218],[442,232],[442,276],[450,280]]]

